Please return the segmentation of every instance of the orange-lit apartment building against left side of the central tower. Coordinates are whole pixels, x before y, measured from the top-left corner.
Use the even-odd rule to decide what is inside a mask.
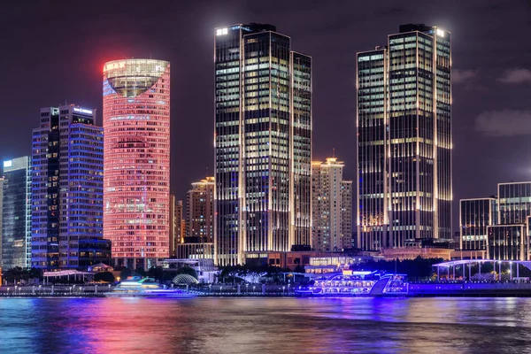
[[[192,183],[187,194],[186,235],[177,258],[214,257],[214,177]]]

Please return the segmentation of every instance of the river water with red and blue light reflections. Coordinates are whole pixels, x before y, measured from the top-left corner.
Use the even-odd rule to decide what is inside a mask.
[[[529,298],[2,298],[1,353],[524,353]]]

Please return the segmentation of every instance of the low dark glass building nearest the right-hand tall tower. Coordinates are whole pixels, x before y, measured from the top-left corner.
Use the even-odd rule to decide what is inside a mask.
[[[460,250],[487,250],[487,227],[497,224],[496,198],[459,201]]]

